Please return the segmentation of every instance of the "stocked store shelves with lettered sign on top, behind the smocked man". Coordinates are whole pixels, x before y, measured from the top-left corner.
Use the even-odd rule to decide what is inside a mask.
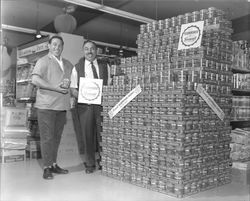
[[[39,158],[38,149],[39,133],[37,126],[36,111],[33,107],[36,97],[36,87],[31,83],[31,73],[37,60],[48,53],[49,37],[33,41],[17,48],[17,67],[16,67],[16,101],[25,103],[28,111],[26,155],[27,158]]]

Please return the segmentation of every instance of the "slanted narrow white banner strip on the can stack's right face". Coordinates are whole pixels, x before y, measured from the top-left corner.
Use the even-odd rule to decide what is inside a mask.
[[[202,87],[201,84],[198,84],[197,93],[204,99],[204,101],[209,105],[209,107],[217,114],[217,116],[223,120],[225,118],[225,113],[223,110],[217,105],[214,99],[206,92],[206,90]]]

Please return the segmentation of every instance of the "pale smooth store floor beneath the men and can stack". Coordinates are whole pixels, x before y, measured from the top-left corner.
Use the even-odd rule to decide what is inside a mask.
[[[42,179],[41,161],[1,164],[1,201],[249,201],[249,186],[231,183],[177,199],[101,175],[87,175],[81,164],[68,175]],[[65,164],[64,164],[65,165]]]

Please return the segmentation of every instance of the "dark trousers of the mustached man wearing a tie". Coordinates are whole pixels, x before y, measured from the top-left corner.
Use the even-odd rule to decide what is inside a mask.
[[[95,152],[99,148],[101,132],[101,106],[77,104],[76,111],[84,139],[86,165],[95,166]]]

